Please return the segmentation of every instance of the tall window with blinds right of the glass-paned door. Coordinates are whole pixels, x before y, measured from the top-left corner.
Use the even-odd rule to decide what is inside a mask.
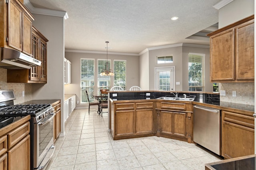
[[[188,54],[189,91],[204,92],[204,55]]]

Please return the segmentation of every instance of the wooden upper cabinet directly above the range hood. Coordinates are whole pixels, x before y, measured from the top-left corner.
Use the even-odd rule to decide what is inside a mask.
[[[7,16],[0,18],[3,28],[1,47],[13,48],[32,55],[32,21],[29,10],[18,0],[2,1],[0,12]],[[6,20],[6,21],[5,21]]]

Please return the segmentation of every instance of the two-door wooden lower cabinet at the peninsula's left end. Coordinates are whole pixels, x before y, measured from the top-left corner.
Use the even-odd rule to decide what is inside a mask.
[[[154,103],[117,103],[114,104],[114,131],[111,129],[113,139],[126,139],[133,137],[152,136],[156,132],[154,123]],[[111,122],[111,124],[112,124]]]

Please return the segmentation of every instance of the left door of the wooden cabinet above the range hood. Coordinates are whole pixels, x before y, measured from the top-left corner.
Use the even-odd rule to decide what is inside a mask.
[[[22,10],[10,0],[8,11],[8,45],[22,51]]]

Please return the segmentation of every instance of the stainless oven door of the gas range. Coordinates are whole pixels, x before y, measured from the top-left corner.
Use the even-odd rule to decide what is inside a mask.
[[[51,113],[38,123],[34,123],[34,169],[45,169],[54,152],[53,117]],[[47,159],[47,160],[46,160]],[[41,164],[42,163],[42,164]]]

